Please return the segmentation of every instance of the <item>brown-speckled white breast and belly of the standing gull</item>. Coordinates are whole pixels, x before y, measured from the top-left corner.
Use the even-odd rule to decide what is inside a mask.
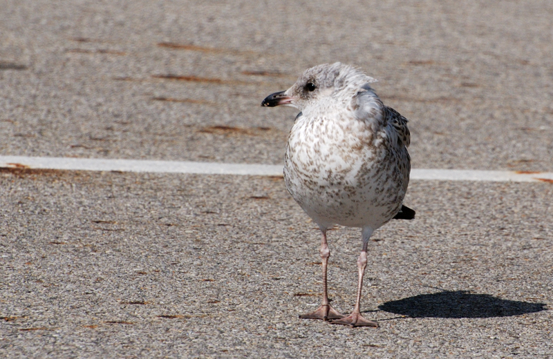
[[[288,137],[284,177],[315,222],[377,228],[395,215],[402,175],[393,151],[376,137],[355,119],[299,117]]]

